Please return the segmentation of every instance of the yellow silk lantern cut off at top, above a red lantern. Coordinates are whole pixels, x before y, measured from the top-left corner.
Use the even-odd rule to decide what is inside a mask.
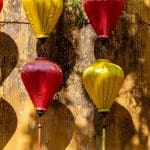
[[[22,0],[22,3],[36,38],[47,38],[61,15],[63,1]]]

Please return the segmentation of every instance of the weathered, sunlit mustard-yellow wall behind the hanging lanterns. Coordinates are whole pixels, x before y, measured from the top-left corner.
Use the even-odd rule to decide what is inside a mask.
[[[42,150],[99,150],[102,116],[86,94],[81,75],[103,51],[80,9],[65,1],[46,42],[64,81],[42,122]],[[20,80],[23,64],[41,55],[21,0],[4,0],[0,14],[0,150],[36,150],[33,105]],[[126,0],[107,43],[107,57],[126,78],[107,116],[107,150],[150,150],[150,0]]]

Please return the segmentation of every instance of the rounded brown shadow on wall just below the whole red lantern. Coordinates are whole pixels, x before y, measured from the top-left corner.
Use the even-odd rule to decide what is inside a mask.
[[[34,116],[34,117],[33,117]],[[35,119],[35,115],[31,114]],[[75,124],[74,117],[62,103],[54,100],[42,118],[42,149],[64,150],[70,143]],[[31,136],[30,150],[37,148],[37,128],[29,127],[25,134]]]

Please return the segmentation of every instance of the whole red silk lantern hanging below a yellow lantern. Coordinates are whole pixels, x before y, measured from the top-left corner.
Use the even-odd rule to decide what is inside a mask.
[[[45,57],[39,57],[23,67],[21,78],[37,114],[42,115],[62,81],[60,67]]]

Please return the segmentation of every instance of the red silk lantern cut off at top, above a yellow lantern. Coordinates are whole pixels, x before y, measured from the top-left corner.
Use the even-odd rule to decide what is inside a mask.
[[[83,0],[84,10],[98,38],[108,39],[124,7],[124,0]]]

